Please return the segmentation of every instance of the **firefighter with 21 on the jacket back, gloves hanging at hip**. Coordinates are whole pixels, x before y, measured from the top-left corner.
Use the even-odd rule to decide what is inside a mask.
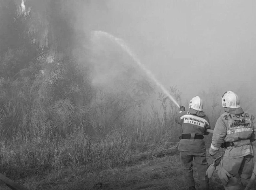
[[[209,153],[214,156],[220,147],[225,148],[220,167],[228,172],[228,177],[221,174],[219,177],[226,190],[239,190],[235,175],[239,174],[243,187],[252,175],[251,142],[255,140],[256,129],[253,116],[243,111],[234,92],[227,91],[222,95],[222,107],[225,112],[215,124]]]

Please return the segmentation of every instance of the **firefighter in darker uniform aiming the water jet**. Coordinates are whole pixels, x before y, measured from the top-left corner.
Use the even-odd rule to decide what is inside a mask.
[[[201,189],[209,189],[209,179],[205,174],[208,163],[206,160],[206,148],[203,135],[208,135],[210,129],[209,119],[203,112],[203,101],[196,96],[190,100],[189,110],[185,111],[184,106],[180,106],[180,112],[175,121],[181,125],[181,136],[178,150],[180,151],[183,163],[183,172],[190,190],[195,190],[193,177],[193,164],[197,168]]]

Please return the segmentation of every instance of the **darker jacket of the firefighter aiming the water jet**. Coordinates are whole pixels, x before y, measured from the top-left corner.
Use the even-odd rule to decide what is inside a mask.
[[[194,135],[208,135],[207,129],[210,129],[209,118],[203,111],[190,109],[189,111],[177,114],[175,121],[181,125],[182,135],[191,135],[191,139],[181,139],[179,141],[179,151],[205,152],[205,141],[203,139],[194,139]]]

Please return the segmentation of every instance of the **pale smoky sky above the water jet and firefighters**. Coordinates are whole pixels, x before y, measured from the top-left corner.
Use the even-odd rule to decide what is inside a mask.
[[[122,38],[164,87],[256,97],[256,1],[109,0],[91,30]],[[97,18],[97,19],[95,19]]]

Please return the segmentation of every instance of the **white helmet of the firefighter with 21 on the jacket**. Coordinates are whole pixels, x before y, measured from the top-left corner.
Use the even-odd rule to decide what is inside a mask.
[[[236,93],[232,91],[226,91],[221,97],[222,107],[224,108],[239,108],[240,101]]]

